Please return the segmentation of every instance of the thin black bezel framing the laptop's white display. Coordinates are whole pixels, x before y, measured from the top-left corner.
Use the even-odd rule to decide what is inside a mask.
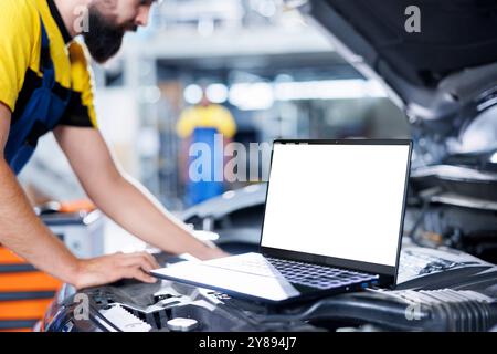
[[[319,254],[311,254],[311,253],[305,253],[305,252],[296,252],[290,250],[284,250],[284,249],[276,249],[276,248],[269,248],[262,246],[263,242],[263,236],[264,236],[264,221],[266,218],[266,206],[267,206],[267,195],[269,191],[269,184],[271,184],[271,170],[273,167],[273,156],[274,156],[274,145],[276,144],[284,144],[284,145],[405,145],[409,147],[408,153],[408,164],[406,164],[406,173],[405,173],[405,184],[404,184],[404,195],[402,200],[402,214],[401,214],[401,220],[399,226],[399,238],[398,238],[398,249],[396,249],[396,259],[395,259],[395,266],[385,266],[385,264],[377,264],[377,263],[369,263],[369,262],[362,262],[362,261],[353,261],[348,259],[341,259],[341,258],[335,258],[335,257],[327,257],[327,256],[319,256]],[[404,227],[404,218],[405,218],[405,204],[408,198],[408,188],[409,188],[409,178],[410,178],[410,171],[411,171],[411,157],[412,157],[412,148],[413,143],[411,139],[275,139],[273,142],[273,149],[271,154],[271,168],[269,168],[269,178],[267,181],[267,189],[266,189],[266,202],[264,205],[264,217],[261,228],[261,240],[260,240],[260,252],[264,254],[265,257],[274,257],[274,258],[284,258],[289,260],[296,260],[296,261],[304,261],[309,263],[317,263],[317,264],[326,264],[330,267],[337,267],[337,268],[347,268],[351,270],[362,271],[367,273],[373,273],[380,275],[380,285],[381,287],[390,287],[394,288],[396,284],[398,273],[399,273],[399,262],[400,262],[400,252],[401,252],[401,246],[402,246],[402,233],[403,233],[403,227]]]

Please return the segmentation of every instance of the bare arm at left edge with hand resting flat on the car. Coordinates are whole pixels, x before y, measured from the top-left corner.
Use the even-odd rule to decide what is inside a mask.
[[[78,260],[44,226],[4,159],[10,121],[10,110],[0,102],[0,243],[38,269],[78,289],[121,278],[154,282],[154,278],[144,272],[157,268],[149,254],[115,254]]]

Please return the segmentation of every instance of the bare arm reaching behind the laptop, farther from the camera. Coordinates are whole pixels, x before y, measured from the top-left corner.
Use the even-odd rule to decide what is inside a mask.
[[[226,256],[197,240],[142,186],[125,177],[98,129],[61,126],[54,133],[88,197],[128,232],[173,254]]]

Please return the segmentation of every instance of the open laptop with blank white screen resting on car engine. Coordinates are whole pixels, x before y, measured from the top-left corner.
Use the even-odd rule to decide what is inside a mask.
[[[393,288],[411,153],[411,140],[275,140],[260,252],[151,274],[268,304]]]

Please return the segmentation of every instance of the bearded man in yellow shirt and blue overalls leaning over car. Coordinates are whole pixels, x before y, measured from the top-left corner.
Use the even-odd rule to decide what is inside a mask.
[[[155,282],[148,271],[159,266],[146,252],[77,259],[36,217],[15,175],[51,131],[88,197],[124,229],[170,253],[224,256],[125,176],[97,128],[87,53],[98,63],[114,56],[126,32],[147,24],[154,2],[2,0],[0,243],[77,289],[123,278]],[[86,9],[87,28],[77,25],[77,9]],[[85,44],[74,41],[78,34]]]

